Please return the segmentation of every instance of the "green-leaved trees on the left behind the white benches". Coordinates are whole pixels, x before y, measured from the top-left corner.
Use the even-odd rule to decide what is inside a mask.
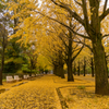
[[[47,64],[37,62],[43,56],[36,52],[37,45],[29,40],[27,45],[19,43],[21,36],[10,37],[17,32],[13,29],[19,24],[19,19],[11,20],[14,11],[9,11],[10,1],[0,0],[0,85],[3,74],[12,73],[38,73],[47,70]]]

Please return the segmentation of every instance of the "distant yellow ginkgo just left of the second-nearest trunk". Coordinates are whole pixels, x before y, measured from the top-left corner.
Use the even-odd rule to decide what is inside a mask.
[[[49,29],[48,36],[44,37],[45,43],[43,43],[44,38],[41,39],[43,43],[41,53],[43,56],[48,58],[49,62],[53,68],[53,73],[64,78],[64,72],[63,72],[64,60],[62,51],[63,50],[62,41],[57,36],[57,34],[52,33],[51,29]]]

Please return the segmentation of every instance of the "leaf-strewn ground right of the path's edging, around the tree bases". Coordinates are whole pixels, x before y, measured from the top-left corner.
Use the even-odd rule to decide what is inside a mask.
[[[75,76],[74,83],[56,78],[57,83],[68,84],[60,90],[69,109],[109,109],[109,96],[95,95],[94,80],[90,75]]]

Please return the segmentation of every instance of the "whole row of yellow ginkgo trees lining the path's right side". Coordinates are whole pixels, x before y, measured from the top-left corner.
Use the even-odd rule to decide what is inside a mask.
[[[87,47],[88,55],[94,56],[95,93],[109,94],[104,46],[108,39],[108,0],[40,1],[41,3],[36,0],[9,1],[9,11],[13,12],[12,20],[19,21],[12,37],[19,36],[23,44],[36,40],[39,53],[49,59],[56,73],[62,73],[63,64],[66,63],[68,81],[74,81],[72,62]]]

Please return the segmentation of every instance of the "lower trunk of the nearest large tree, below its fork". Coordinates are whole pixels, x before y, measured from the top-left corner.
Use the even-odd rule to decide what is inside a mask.
[[[94,62],[95,62],[95,82],[96,94],[109,95],[108,89],[108,70],[106,64],[106,53],[101,44],[101,39],[93,43]]]

